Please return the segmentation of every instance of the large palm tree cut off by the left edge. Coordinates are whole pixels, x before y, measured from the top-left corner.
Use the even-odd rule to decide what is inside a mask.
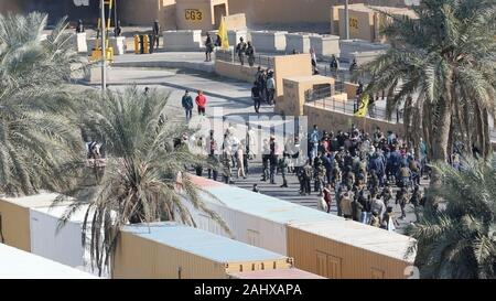
[[[65,20],[43,39],[46,14],[0,14],[0,193],[33,194],[67,185],[57,169],[80,155],[65,83],[77,54]]]

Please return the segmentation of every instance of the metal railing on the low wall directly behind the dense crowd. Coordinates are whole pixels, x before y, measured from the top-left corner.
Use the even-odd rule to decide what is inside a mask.
[[[333,95],[336,93],[332,87],[322,87],[317,89],[310,89],[305,93],[306,103],[313,103],[315,107],[322,107],[324,109],[342,111],[344,114],[355,114],[358,107],[357,100],[343,101],[336,99]],[[386,120],[389,122],[402,122],[402,110],[395,109],[389,117],[385,108],[379,108],[376,105],[369,105],[368,117],[374,119]]]

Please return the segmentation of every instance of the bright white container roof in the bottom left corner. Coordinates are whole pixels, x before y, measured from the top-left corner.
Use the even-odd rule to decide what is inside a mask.
[[[0,279],[97,279],[97,277],[0,244]]]

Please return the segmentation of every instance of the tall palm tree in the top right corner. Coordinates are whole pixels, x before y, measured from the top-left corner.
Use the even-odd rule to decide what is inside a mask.
[[[405,105],[407,133],[422,126],[430,157],[446,162],[454,141],[490,151],[495,115],[496,4],[494,0],[422,0],[418,19],[395,17],[382,33],[389,51],[360,69],[370,93],[389,89],[387,108]],[[410,137],[418,141],[418,137]]]

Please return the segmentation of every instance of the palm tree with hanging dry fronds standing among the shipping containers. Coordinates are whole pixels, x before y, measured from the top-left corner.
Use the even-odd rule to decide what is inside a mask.
[[[177,221],[196,226],[184,202],[191,202],[228,230],[219,216],[205,207],[201,190],[188,176],[187,165],[206,162],[187,144],[177,143],[176,138],[181,141],[183,135],[193,131],[168,121],[168,99],[169,94],[152,90],[144,95],[136,87],[88,99],[85,129],[103,142],[106,166],[93,192],[82,187],[65,193],[83,202],[74,203],[61,222],[89,204],[84,224],[91,221],[90,257],[100,273],[111,268],[119,229],[126,224]],[[83,196],[83,192],[87,195]]]

